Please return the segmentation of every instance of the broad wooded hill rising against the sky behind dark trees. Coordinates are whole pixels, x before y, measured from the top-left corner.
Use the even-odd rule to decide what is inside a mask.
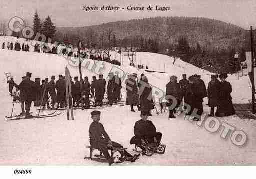
[[[92,29],[99,34],[112,28],[117,39],[142,36],[144,39],[158,39],[162,44],[174,44],[179,35],[188,39],[189,45],[212,48],[240,48],[244,45],[245,30],[242,27],[220,20],[202,17],[154,17],[116,21],[85,27],[59,27],[62,34],[78,34],[87,38],[87,31]]]

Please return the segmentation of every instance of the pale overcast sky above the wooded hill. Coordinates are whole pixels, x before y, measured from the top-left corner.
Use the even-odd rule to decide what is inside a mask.
[[[83,5],[113,5],[124,9],[85,12]],[[126,10],[128,5],[169,6],[171,10]],[[256,28],[256,0],[0,0],[0,20],[21,16],[31,24],[35,9],[41,19],[50,15],[57,27],[90,26],[155,16],[189,16],[217,19],[244,29],[249,29],[250,25]]]

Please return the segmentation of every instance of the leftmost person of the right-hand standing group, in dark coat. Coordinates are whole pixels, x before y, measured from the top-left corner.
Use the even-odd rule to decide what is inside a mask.
[[[176,112],[175,107],[180,105],[180,87],[176,79],[177,79],[176,76],[171,76],[170,82],[166,84],[166,97],[170,95],[176,99],[176,105],[173,106],[173,109],[169,109],[169,118],[175,118],[174,116],[174,113]],[[169,101],[168,106],[174,103],[173,99],[170,99],[167,97],[167,100]]]

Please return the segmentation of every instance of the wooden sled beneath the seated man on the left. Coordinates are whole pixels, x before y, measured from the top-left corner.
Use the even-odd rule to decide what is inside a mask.
[[[102,152],[100,151],[100,155],[95,154],[94,157],[92,157],[92,153],[95,150],[95,148],[91,147],[91,146],[86,146],[86,148],[90,149],[90,157],[85,156],[84,159],[90,159],[93,161],[97,161],[97,162],[104,162],[104,163],[108,163],[108,160],[105,158],[105,156],[103,156]],[[127,148],[109,148],[109,150],[111,151],[111,158],[113,158],[114,163],[122,163],[124,161],[130,161],[129,158],[124,158],[124,150],[126,150]],[[98,149],[97,149],[98,150]],[[119,155],[115,155],[115,152],[121,152],[121,156]]]

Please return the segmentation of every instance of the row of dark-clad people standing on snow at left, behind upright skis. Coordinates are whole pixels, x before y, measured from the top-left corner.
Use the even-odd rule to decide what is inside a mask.
[[[27,72],[26,76],[22,77],[22,81],[17,85],[13,78],[8,80],[9,92],[13,96],[13,87],[15,86],[17,91],[19,91],[19,97],[21,101],[21,115],[26,115],[26,117],[31,117],[29,114],[31,102],[34,101],[34,106],[43,106],[43,108],[48,108],[52,110],[57,110],[57,108],[63,108],[67,105],[66,103],[66,86],[65,77],[59,75],[59,79],[55,82],[55,76],[51,76],[51,80],[48,78],[42,79],[35,78],[35,81],[31,79],[31,73]],[[93,106],[102,106],[104,95],[107,95],[107,103],[113,104],[120,101],[121,95],[121,79],[114,75],[109,74],[110,79],[108,80],[108,85],[104,76],[99,75],[99,79],[96,76],[92,76],[92,82],[88,81],[88,77],[82,79],[82,83],[78,80],[78,77],[74,77],[74,81],[71,79],[71,94],[72,99],[69,102],[70,105],[74,107],[81,107],[84,105],[85,108],[90,108],[90,103],[92,100],[89,96],[94,98]],[[81,88],[82,86],[82,100],[81,101]],[[107,86],[107,90],[106,90]],[[15,93],[17,94],[17,93]],[[50,100],[51,99],[51,104]],[[25,104],[25,109],[24,109]]]

